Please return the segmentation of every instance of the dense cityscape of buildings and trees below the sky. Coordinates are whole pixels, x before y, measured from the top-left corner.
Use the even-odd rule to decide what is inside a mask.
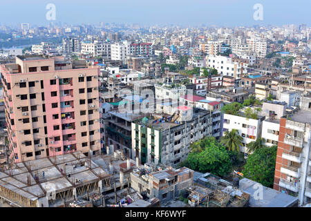
[[[0,207],[311,206],[307,21],[4,22]]]

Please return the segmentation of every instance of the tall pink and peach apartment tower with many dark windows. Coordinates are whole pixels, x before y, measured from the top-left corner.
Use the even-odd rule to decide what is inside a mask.
[[[85,61],[40,55],[1,65],[10,159],[100,153],[99,73]]]

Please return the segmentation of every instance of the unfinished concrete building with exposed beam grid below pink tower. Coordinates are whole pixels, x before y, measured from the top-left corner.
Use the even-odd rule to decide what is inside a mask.
[[[0,199],[14,206],[55,207],[102,198],[128,184],[135,166],[124,155],[86,157],[81,152],[11,164],[0,171]],[[102,201],[104,202],[104,200]]]

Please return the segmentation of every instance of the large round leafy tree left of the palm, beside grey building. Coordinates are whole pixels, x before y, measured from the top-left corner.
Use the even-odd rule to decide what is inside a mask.
[[[217,142],[214,137],[205,137],[205,139],[200,140],[199,144],[202,151],[191,151],[182,166],[187,166],[201,173],[213,173],[221,177],[231,172],[232,162],[225,146]]]

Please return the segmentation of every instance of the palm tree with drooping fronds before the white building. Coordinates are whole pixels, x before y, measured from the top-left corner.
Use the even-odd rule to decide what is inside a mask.
[[[240,146],[242,146],[243,138],[238,135],[238,131],[236,129],[232,129],[232,131],[226,131],[225,136],[220,138],[220,142],[225,145],[228,151],[240,151]]]

